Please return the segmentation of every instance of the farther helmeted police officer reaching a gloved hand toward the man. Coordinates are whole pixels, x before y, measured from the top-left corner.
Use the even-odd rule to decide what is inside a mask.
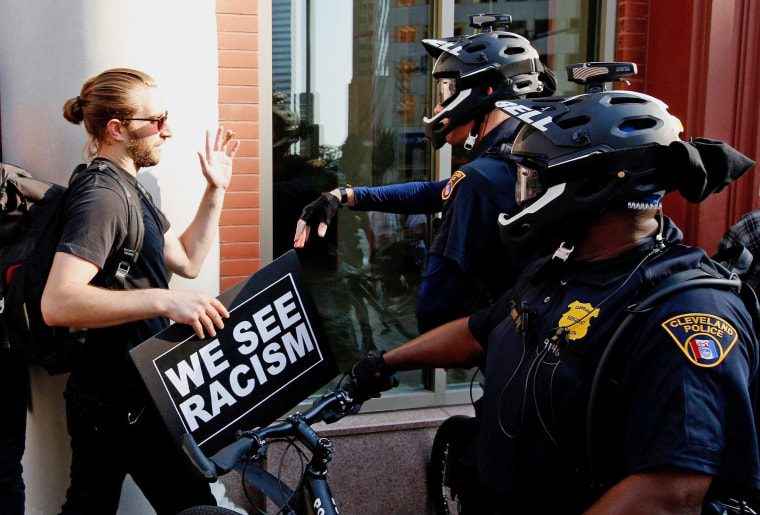
[[[424,118],[425,135],[436,149],[445,143],[463,146],[468,164],[450,180],[411,182],[380,187],[336,188],[304,208],[294,237],[306,244],[310,224],[321,237],[337,209],[437,213],[441,224],[433,240],[417,297],[420,331],[469,314],[504,292],[512,274],[494,273],[509,267],[498,245],[497,216],[514,208],[515,171],[493,159],[509,145],[519,125],[494,108],[498,100],[551,95],[554,74],[540,61],[530,42],[506,27],[503,15],[470,16],[482,32],[471,36],[425,39],[425,50],[436,59],[435,114]],[[477,50],[477,51],[475,51]],[[508,152],[509,147],[505,147]]]

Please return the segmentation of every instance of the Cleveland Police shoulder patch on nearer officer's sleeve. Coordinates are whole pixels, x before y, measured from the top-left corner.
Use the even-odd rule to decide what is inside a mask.
[[[718,366],[739,338],[734,326],[715,315],[686,313],[662,323],[689,361],[700,367]]]

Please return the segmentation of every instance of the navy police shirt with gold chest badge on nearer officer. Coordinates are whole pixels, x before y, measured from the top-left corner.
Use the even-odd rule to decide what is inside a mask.
[[[667,219],[664,234],[658,252],[649,240],[604,262],[535,262],[470,318],[487,354],[479,475],[495,511],[579,513],[594,502],[585,425],[601,353],[647,290],[711,266],[701,249],[678,245]],[[741,300],[718,289],[685,290],[641,315],[594,432],[605,488],[673,466],[760,489],[751,324]]]

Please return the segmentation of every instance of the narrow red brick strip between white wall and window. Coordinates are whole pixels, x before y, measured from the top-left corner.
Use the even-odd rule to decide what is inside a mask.
[[[219,227],[220,289],[259,269],[258,1],[217,0],[219,120],[241,145]]]

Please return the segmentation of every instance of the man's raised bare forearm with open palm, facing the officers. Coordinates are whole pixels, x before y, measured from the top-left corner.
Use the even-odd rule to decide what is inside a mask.
[[[206,190],[195,218],[177,237],[169,229],[165,236],[164,260],[170,272],[182,277],[196,277],[206,259],[219,226],[224,194],[232,179],[232,160],[240,142],[231,131],[219,127],[216,136],[206,132],[206,151],[198,152]]]

